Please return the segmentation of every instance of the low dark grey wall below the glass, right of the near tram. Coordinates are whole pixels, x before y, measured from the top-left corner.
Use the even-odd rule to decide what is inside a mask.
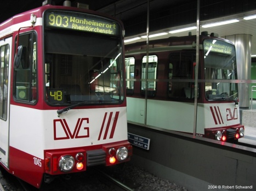
[[[209,190],[213,185],[221,186],[218,190],[256,188],[254,152],[134,124],[128,124],[128,133],[150,139],[149,150],[133,147],[132,163],[190,191]]]

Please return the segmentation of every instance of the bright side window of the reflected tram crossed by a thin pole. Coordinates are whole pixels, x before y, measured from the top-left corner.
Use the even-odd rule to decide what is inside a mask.
[[[144,56],[141,64],[141,96],[145,96],[145,91],[147,90],[147,97],[152,98],[156,96],[157,56],[149,56],[147,68],[146,59],[146,56]],[[145,79],[147,79],[147,85]]]

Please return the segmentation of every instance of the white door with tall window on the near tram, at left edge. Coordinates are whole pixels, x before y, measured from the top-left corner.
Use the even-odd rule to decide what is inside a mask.
[[[12,37],[0,40],[0,161],[8,167]]]

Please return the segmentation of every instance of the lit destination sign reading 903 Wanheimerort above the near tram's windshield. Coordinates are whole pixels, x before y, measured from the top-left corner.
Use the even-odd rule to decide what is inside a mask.
[[[93,33],[117,35],[119,26],[117,22],[88,14],[73,14],[71,12],[48,12],[46,26],[87,31]]]

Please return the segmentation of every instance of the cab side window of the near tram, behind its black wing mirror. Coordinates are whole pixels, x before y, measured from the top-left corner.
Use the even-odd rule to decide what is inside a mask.
[[[14,61],[14,98],[35,103],[37,99],[36,34],[19,37],[20,61]]]

